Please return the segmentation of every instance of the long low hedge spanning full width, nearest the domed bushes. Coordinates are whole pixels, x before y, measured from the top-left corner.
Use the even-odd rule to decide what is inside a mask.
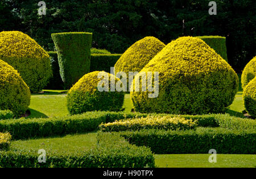
[[[150,114],[164,116],[167,114]],[[10,132],[13,139],[28,139],[53,135],[84,133],[98,130],[101,123],[115,120],[141,118],[148,114],[92,111],[58,118],[5,119],[0,120],[0,132]],[[177,116],[177,115],[168,115]],[[199,127],[224,127],[227,129],[256,129],[256,120],[236,118],[230,115],[179,115],[185,119],[197,120]]]

